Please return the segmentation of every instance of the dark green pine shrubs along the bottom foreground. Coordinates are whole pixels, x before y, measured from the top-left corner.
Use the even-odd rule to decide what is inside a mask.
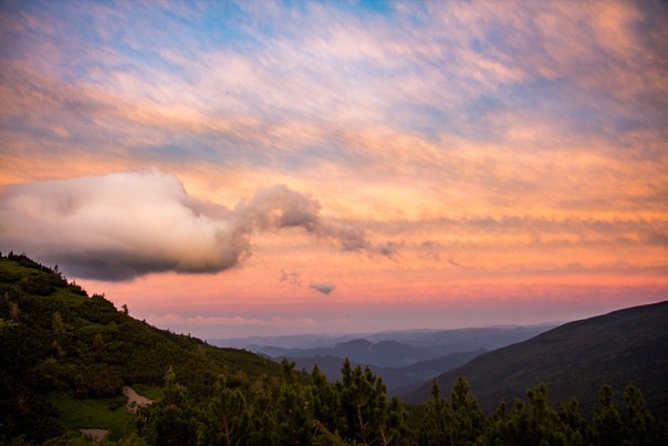
[[[408,412],[386,397],[383,381],[346,361],[342,380],[328,383],[315,366],[311,382],[283,362],[283,380],[230,385],[220,377],[206,404],[166,376],[165,398],[139,414],[139,434],[159,445],[665,445],[666,425],[654,418],[640,391],[628,385],[624,405],[604,385],[591,419],[572,400],[550,407],[540,384],[509,409],[487,416],[459,377],[448,398],[435,382],[431,397]]]

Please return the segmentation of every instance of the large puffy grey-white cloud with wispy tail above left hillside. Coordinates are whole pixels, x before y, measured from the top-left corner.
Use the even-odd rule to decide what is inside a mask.
[[[11,186],[0,196],[0,221],[7,249],[103,280],[222,271],[251,255],[253,231],[294,227],[344,250],[389,255],[364,230],[323,219],[314,198],[283,185],[227,209],[189,196],[178,178],[157,170]]]

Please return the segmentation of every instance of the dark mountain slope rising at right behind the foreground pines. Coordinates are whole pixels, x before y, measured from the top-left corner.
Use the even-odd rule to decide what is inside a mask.
[[[602,384],[620,391],[633,382],[653,413],[668,418],[668,301],[563,324],[482,354],[437,381],[449,390],[459,375],[488,411],[541,382],[547,385],[550,404],[575,396],[591,411]],[[425,383],[403,400],[424,402],[429,391]]]

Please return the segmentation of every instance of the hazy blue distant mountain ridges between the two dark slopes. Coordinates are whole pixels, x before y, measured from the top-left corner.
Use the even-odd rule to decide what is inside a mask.
[[[488,350],[526,340],[552,326],[390,331],[356,335],[359,338],[320,334],[253,336],[210,342],[244,348],[274,360],[289,357],[295,361],[298,369],[307,371],[317,364],[330,381],[341,377],[343,362],[348,359],[353,365],[368,365],[383,377],[388,394],[398,395]]]

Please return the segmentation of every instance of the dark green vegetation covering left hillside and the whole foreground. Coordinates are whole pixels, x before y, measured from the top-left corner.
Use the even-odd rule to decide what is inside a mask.
[[[0,444],[81,444],[82,427],[124,445],[668,444],[634,385],[604,385],[591,414],[551,406],[544,385],[486,414],[461,377],[405,406],[368,369],[346,361],[330,383],[157,330],[25,256],[0,256]],[[125,385],[156,402],[128,415]]]

